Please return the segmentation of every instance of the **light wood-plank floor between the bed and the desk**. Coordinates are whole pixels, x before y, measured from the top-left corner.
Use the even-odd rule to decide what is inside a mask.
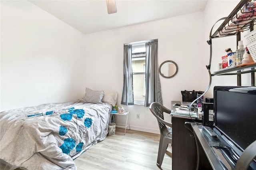
[[[169,144],[161,168],[156,166],[160,134],[116,128],[116,134],[91,146],[74,160],[78,170],[171,170]]]

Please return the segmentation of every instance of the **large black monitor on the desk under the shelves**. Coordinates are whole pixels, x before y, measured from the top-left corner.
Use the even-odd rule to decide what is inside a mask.
[[[256,87],[214,87],[214,131],[240,156],[256,140]]]

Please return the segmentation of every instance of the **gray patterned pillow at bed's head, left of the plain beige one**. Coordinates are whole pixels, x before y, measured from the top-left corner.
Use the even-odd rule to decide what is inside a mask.
[[[102,98],[104,96],[104,91],[94,91],[86,87],[84,94],[84,102],[85,103],[102,103]]]

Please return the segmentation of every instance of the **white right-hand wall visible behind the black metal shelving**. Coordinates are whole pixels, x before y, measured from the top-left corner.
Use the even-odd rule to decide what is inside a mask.
[[[207,6],[204,10],[204,41],[203,41],[203,52],[204,52],[204,64],[209,64],[210,57],[210,45],[206,43],[209,40],[210,30],[212,26],[217,22],[220,18],[227,17],[230,12],[237,6],[240,0],[209,0]],[[217,10],[218,9],[218,10]],[[222,24],[224,20],[217,22],[216,26],[213,28],[212,34],[218,29],[220,24]],[[241,33],[241,40],[244,42],[244,47],[246,45],[246,40],[244,39],[244,35],[246,35],[249,31]],[[221,63],[221,57],[226,55],[225,49],[231,48],[232,51],[236,51],[236,36],[231,37],[223,37],[212,39],[212,65],[211,72],[218,70],[218,63]],[[205,68],[205,67],[204,67]],[[250,86],[251,79],[250,73],[242,74],[242,86]],[[212,77],[212,85],[206,93],[206,96],[213,97],[213,88],[214,86],[236,86],[236,75],[219,75]],[[204,71],[204,86],[207,86],[209,79],[209,75]]]

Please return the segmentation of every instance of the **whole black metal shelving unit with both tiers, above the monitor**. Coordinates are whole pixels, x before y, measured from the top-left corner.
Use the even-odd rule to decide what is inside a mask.
[[[236,8],[234,8],[234,10],[229,14],[228,17],[220,19],[220,20],[224,20],[224,22],[222,22],[222,24],[214,32],[214,34],[212,34],[212,30],[210,31],[210,40],[207,41],[207,43],[210,45],[210,62],[209,62],[209,65],[206,66],[208,70],[210,70],[210,65],[212,62],[212,38],[236,36],[236,45],[238,45],[238,41],[240,41],[240,38],[241,38],[240,32],[243,32],[246,30],[250,30],[250,31],[253,30],[254,23],[256,23],[256,12],[254,12],[254,8],[256,7],[253,7],[254,4],[250,2],[253,2],[253,1],[241,0],[236,6]],[[212,29],[213,28],[214,26],[212,27]],[[211,76],[237,75],[237,85],[241,86],[241,74],[251,73],[251,85],[255,86],[254,72],[256,72],[256,63],[251,65],[241,66],[241,67],[235,67],[232,69],[225,69],[223,71],[219,71],[217,73],[211,74]]]

